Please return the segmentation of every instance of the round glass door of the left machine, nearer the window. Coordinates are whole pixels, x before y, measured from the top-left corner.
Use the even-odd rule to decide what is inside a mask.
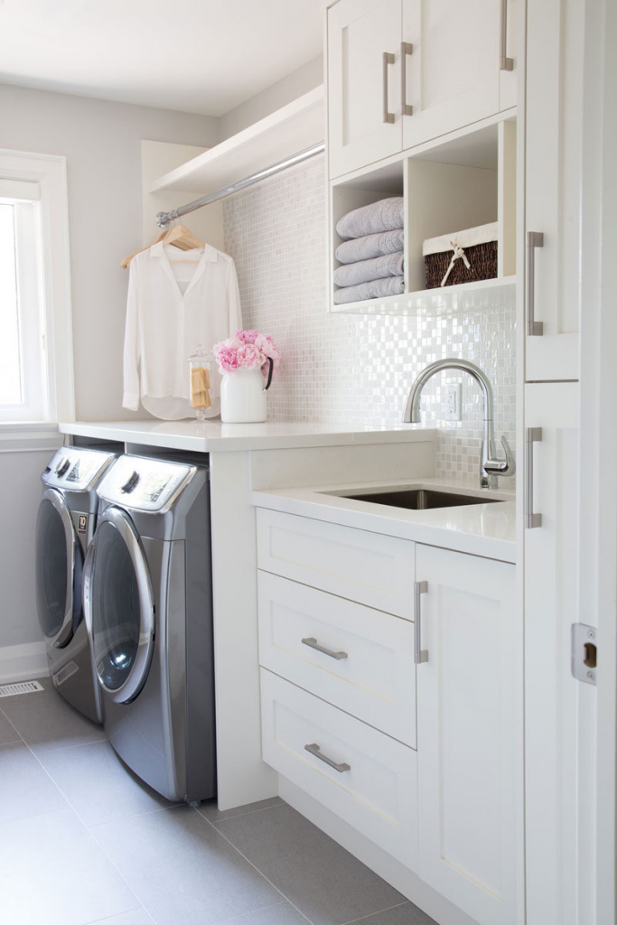
[[[47,488],[36,521],[36,604],[43,635],[66,646],[81,619],[80,541],[65,499]]]

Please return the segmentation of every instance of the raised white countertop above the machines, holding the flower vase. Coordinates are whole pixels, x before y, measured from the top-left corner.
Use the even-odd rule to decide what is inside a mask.
[[[422,425],[396,427],[351,426],[281,421],[265,424],[222,424],[213,421],[74,421],[61,423],[62,434],[142,443],[192,452],[281,450],[289,447],[327,447],[361,443],[404,443],[434,437]]]

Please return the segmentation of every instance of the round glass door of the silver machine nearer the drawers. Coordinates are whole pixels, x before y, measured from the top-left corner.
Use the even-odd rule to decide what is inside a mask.
[[[99,682],[117,703],[133,700],[154,649],[150,572],[130,517],[109,507],[99,518],[84,571],[83,602]]]

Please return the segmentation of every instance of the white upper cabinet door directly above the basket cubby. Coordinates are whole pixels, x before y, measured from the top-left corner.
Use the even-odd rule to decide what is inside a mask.
[[[502,6],[498,0],[403,0],[403,102],[411,107],[402,117],[403,148],[500,111]]]

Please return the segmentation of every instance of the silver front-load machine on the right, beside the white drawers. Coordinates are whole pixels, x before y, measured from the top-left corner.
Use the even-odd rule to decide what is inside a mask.
[[[207,465],[120,456],[97,488],[84,612],[105,731],[169,800],[216,795]]]

